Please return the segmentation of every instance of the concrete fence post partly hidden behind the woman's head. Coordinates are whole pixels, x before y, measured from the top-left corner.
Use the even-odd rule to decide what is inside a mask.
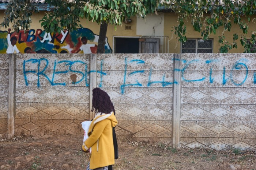
[[[93,119],[93,89],[97,87],[97,54],[90,55],[90,120]]]

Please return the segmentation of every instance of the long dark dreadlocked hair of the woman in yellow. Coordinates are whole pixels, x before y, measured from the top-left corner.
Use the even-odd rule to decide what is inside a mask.
[[[95,111],[96,113],[101,112],[101,114],[110,114],[113,111],[114,115],[116,114],[109,95],[100,88],[93,89],[93,108],[91,111]]]

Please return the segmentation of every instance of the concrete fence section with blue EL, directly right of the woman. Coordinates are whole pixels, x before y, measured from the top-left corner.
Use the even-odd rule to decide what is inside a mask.
[[[116,110],[118,136],[172,142],[173,54],[99,54],[97,87]]]

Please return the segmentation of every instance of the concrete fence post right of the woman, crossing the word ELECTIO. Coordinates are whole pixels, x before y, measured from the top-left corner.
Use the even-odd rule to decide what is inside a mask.
[[[181,112],[181,54],[174,54],[173,64],[173,123],[172,146],[180,147],[180,112]]]

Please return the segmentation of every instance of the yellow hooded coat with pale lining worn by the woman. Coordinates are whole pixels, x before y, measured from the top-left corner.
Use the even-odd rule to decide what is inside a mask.
[[[91,122],[88,133],[89,138],[82,146],[84,151],[91,147],[90,169],[114,164],[112,128],[116,124],[117,120],[113,112],[99,115]]]

